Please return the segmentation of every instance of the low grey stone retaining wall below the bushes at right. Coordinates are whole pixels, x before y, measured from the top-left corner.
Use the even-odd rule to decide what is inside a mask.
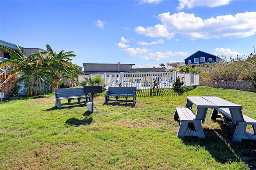
[[[256,92],[255,88],[249,86],[250,81],[213,81],[210,83],[200,81],[200,85],[215,88],[236,89],[242,91]]]

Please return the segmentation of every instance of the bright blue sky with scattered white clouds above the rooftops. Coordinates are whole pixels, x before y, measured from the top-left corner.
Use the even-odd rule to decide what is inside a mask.
[[[255,0],[0,1],[0,39],[73,62],[133,68],[183,61],[198,50],[249,55],[256,48]]]

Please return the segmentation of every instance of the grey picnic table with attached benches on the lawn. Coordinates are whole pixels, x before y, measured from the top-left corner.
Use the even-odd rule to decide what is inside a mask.
[[[196,106],[196,113],[192,111],[192,106]],[[176,107],[174,119],[180,119],[180,127],[177,136],[198,136],[205,138],[201,121],[204,123],[208,108],[212,108],[211,118],[222,118],[226,123],[231,122],[235,127],[232,137],[234,142],[242,142],[243,139],[256,140],[256,120],[242,114],[242,106],[226,101],[216,96],[187,97],[185,107]],[[221,115],[218,115],[218,112]],[[194,129],[190,125],[194,125]],[[254,133],[246,132],[247,125],[252,125]]]

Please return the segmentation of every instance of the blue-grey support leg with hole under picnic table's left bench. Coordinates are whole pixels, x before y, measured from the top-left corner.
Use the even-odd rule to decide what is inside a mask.
[[[195,130],[190,130],[188,127],[188,123],[193,123]],[[178,130],[177,136],[179,138],[184,138],[185,136],[197,136],[198,138],[205,138],[204,130],[201,125],[200,120],[194,120],[194,121],[180,121],[180,127]]]

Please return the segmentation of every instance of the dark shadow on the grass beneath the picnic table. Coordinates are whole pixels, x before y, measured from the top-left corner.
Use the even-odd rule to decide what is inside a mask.
[[[212,157],[222,163],[238,162],[242,160],[245,164],[256,169],[256,149],[255,140],[243,140],[240,142],[232,142],[234,129],[230,128],[226,123],[218,121],[220,129],[204,128],[205,139],[186,136],[183,142],[186,145],[201,146],[205,148]]]

